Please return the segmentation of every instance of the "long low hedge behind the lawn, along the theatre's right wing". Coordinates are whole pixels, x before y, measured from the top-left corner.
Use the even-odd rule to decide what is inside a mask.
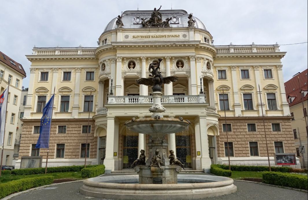
[[[229,165],[217,165],[221,169],[229,170]],[[290,167],[271,167],[272,171],[289,172]],[[231,171],[269,171],[268,166],[245,166],[245,165],[231,165]]]

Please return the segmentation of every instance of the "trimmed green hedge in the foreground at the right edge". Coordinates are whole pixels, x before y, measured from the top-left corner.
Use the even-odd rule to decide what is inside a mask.
[[[262,177],[263,183],[277,186],[293,187],[304,190],[308,189],[308,178],[304,175],[288,174],[281,172],[263,172]]]

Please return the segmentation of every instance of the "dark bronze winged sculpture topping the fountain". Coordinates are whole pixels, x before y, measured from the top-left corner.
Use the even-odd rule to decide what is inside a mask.
[[[176,76],[168,76],[168,77],[162,77],[160,72],[160,62],[163,59],[159,58],[158,63],[153,62],[149,65],[149,74],[150,78],[139,78],[136,79],[136,82],[138,84],[146,85],[146,86],[154,86],[152,88],[153,91],[161,91],[163,84],[169,84],[171,82],[176,82],[179,80]]]

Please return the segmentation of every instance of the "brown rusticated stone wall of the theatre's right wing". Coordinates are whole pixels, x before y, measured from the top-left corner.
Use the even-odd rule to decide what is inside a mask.
[[[227,142],[226,132],[222,131],[225,118],[219,119],[219,136],[217,136],[218,157],[225,157],[224,142]],[[263,120],[261,117],[227,118],[232,131],[228,131],[229,142],[233,142],[234,157],[250,157],[249,142],[258,142],[259,156],[266,157],[266,143]],[[256,123],[257,131],[247,131],[247,123]],[[280,123],[281,131],[272,131],[272,123]],[[269,156],[274,156],[274,142],[283,142],[284,153],[295,153],[294,135],[290,117],[265,117],[265,131]]]

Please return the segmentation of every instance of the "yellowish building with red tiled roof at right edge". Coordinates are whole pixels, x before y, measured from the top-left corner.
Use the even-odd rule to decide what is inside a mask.
[[[292,116],[292,129],[295,150],[301,166],[307,168],[307,107],[308,107],[308,70],[298,72],[293,78],[285,82],[286,97]]]

